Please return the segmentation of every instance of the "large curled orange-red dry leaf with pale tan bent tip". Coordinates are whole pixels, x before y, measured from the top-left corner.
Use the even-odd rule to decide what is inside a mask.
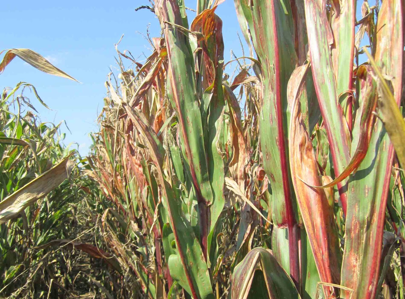
[[[307,65],[296,68],[289,82],[292,88],[288,88],[289,101],[293,103],[289,139],[291,176],[320,279],[322,282],[339,284],[341,252],[333,206],[329,204],[323,189],[312,188],[298,179],[305,177],[310,184],[322,184],[298,100],[307,69]],[[329,292],[326,297],[333,295],[333,288]]]

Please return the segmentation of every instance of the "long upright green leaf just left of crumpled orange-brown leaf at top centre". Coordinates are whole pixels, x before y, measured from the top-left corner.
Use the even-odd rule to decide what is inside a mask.
[[[213,202],[209,180],[203,122],[196,97],[194,58],[188,34],[179,26],[188,28],[183,1],[161,0],[156,2],[156,14],[164,32],[168,53],[167,92],[174,107],[181,132],[181,149],[186,160],[198,201],[201,228],[201,246],[208,254],[208,206]],[[173,24],[175,26],[173,26]]]

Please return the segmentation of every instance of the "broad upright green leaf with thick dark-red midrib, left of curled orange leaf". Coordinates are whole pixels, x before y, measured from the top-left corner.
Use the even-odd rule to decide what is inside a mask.
[[[290,3],[279,1],[235,1],[243,12],[261,64],[262,107],[259,114],[263,166],[271,185],[271,211],[275,225],[287,226],[290,273],[298,284],[298,227],[296,203],[288,164],[287,82],[298,57],[294,47],[294,22]],[[285,8],[288,14],[285,13]],[[241,18],[239,18],[241,19]]]

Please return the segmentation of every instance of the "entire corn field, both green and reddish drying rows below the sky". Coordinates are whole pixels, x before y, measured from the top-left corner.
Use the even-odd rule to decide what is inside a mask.
[[[405,298],[404,1],[234,0],[231,61],[222,2],[145,6],[161,36],[116,45],[85,158],[4,90],[0,295]]]

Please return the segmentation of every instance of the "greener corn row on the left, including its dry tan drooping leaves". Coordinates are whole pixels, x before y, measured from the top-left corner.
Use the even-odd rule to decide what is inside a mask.
[[[46,73],[73,79],[29,49],[7,51],[0,72],[16,56]],[[94,188],[94,182],[78,177],[77,169],[72,172],[70,156],[75,151],[63,144],[63,122],[40,122],[27,96],[29,90],[48,108],[35,87],[26,82],[4,88],[0,96],[0,296],[91,294],[98,280],[104,280],[106,267],[93,262],[92,270],[87,271],[90,258],[104,257],[104,263],[115,271],[121,269],[107,252],[86,243],[93,243],[90,233],[94,227],[86,227],[88,218],[75,214],[83,207],[84,190]],[[66,180],[71,172],[73,178]],[[53,249],[55,245],[58,248]],[[87,254],[77,253],[79,250]],[[80,267],[86,271],[84,278],[77,270]]]

